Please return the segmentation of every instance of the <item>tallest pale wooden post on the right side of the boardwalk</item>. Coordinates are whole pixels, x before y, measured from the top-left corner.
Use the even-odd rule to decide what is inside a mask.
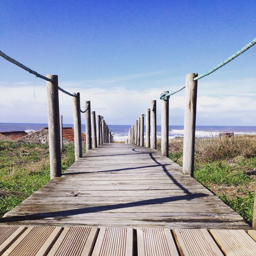
[[[184,115],[184,143],[183,143],[183,174],[194,176],[195,156],[195,115],[198,81],[193,79],[198,74],[186,75],[186,103]]]

